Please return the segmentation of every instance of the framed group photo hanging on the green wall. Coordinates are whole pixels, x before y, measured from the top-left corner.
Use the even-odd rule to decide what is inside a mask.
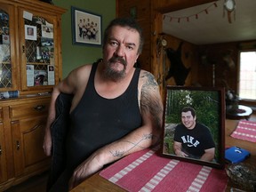
[[[102,43],[102,17],[93,12],[71,7],[73,44],[96,45]]]

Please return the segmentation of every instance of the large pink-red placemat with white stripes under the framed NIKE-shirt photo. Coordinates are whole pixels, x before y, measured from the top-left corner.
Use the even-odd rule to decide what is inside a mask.
[[[157,156],[145,149],[125,156],[100,172],[100,176],[127,191],[224,191],[224,170]]]

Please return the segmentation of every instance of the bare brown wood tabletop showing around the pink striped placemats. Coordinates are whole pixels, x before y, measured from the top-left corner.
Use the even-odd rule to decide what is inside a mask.
[[[244,163],[255,164],[256,162],[256,143],[252,143],[245,140],[237,140],[229,135],[236,129],[236,124],[238,120],[226,119],[226,129],[225,129],[225,142],[227,147],[238,146],[240,148],[247,149],[251,152],[251,156],[244,161]],[[228,180],[228,187],[226,191],[230,191],[231,188],[239,188],[236,184]],[[84,180],[79,186],[71,190],[72,192],[82,192],[82,191],[94,191],[94,192],[124,192],[123,188],[111,183],[110,181],[100,177],[99,173],[92,175],[87,180]]]

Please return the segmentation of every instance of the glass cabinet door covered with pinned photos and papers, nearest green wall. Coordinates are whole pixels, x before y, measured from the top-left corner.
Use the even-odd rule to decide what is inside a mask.
[[[45,90],[56,83],[54,18],[21,10],[24,32],[22,44],[22,90]],[[24,76],[24,75],[23,75]]]

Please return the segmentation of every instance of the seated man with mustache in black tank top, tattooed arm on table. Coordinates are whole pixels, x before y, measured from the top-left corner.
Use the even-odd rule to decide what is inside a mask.
[[[66,169],[50,191],[68,191],[104,165],[156,144],[163,105],[154,76],[133,67],[142,46],[135,20],[113,20],[105,30],[103,59],[76,68],[54,87],[44,136],[47,156],[55,101],[60,92],[74,97]]]

